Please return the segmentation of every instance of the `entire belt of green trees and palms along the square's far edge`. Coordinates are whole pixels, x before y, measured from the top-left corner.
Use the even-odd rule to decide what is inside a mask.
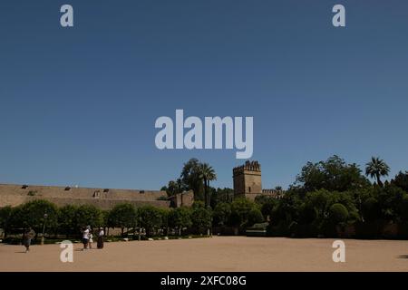
[[[408,224],[408,172],[383,182],[390,169],[378,158],[370,160],[364,172],[375,179],[374,184],[355,163],[333,156],[308,162],[283,198],[260,196],[255,202],[232,200],[232,189],[210,188],[209,176],[204,178],[200,168],[210,169],[198,160],[189,160],[177,189],[197,189],[194,192],[199,193],[202,187],[206,202],[196,201],[192,208],[134,208],[121,204],[102,211],[93,206],[57,208],[48,201],[34,200],[16,208],[0,208],[0,227],[11,232],[34,227],[39,232],[46,223],[48,232],[66,235],[78,234],[79,228],[87,225],[119,227],[122,233],[142,227],[148,234],[157,229],[167,230],[168,234],[170,229],[202,232],[211,226],[245,228],[267,221],[269,233],[276,236],[335,236],[338,227],[366,229],[376,225],[372,236],[378,237],[386,224]]]

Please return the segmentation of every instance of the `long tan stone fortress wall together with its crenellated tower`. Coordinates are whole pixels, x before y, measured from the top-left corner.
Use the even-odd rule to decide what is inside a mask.
[[[255,200],[258,196],[282,198],[284,191],[262,189],[261,167],[257,161],[246,161],[234,168],[234,198]],[[167,198],[166,191],[137,189],[92,189],[78,187],[53,187],[32,185],[0,184],[0,208],[18,206],[34,199],[45,199],[57,206],[94,205],[102,209],[111,209],[118,204],[128,202],[135,207],[151,205],[158,208],[191,207],[194,203],[192,191],[183,192]]]

